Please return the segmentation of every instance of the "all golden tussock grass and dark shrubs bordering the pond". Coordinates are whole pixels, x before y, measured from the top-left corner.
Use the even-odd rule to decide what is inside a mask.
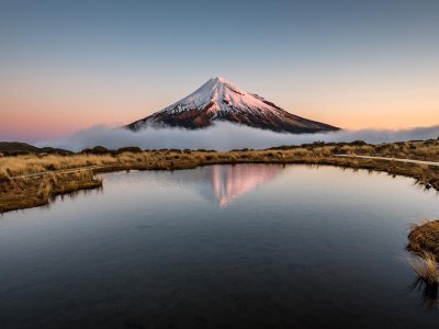
[[[119,170],[178,170],[209,164],[301,163],[336,166],[353,170],[387,172],[416,180],[439,191],[439,167],[382,159],[337,157],[337,155],[406,158],[439,161],[439,140],[368,145],[314,143],[281,146],[266,150],[140,150],[127,147],[108,150],[86,149],[80,154],[26,154],[0,157],[0,213],[45,205],[57,194],[102,186],[99,172]],[[412,227],[408,235],[408,260],[426,285],[439,284],[439,220]]]

